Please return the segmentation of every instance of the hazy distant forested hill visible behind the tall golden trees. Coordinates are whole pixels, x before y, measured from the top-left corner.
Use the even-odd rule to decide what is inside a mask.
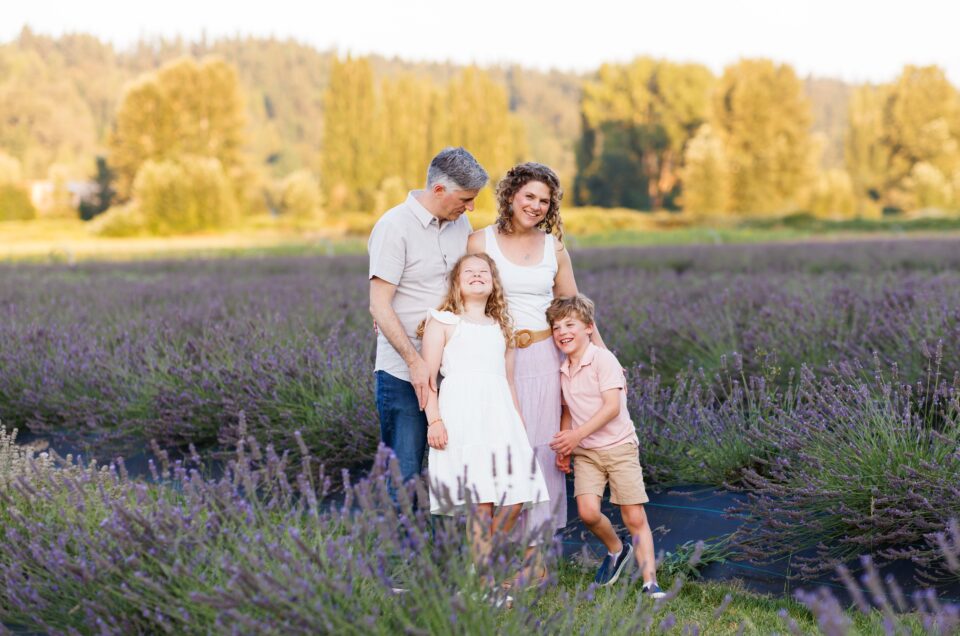
[[[276,177],[301,167],[320,172],[323,95],[335,54],[272,38],[155,39],[117,50],[91,35],[53,38],[24,28],[0,45],[0,148],[20,159],[27,178],[44,178],[53,165],[89,174],[93,158],[104,151],[124,87],[184,55],[219,55],[236,67],[247,100],[254,164]],[[461,70],[445,63],[369,59],[378,77],[407,74],[438,85]],[[510,108],[524,124],[530,158],[572,179],[580,94],[588,75],[520,66],[486,70],[506,88]],[[805,86],[813,100],[813,131],[822,134],[824,164],[842,165],[851,87],[814,78]]]

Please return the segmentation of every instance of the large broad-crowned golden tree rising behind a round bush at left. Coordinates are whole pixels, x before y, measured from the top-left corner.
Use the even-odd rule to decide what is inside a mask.
[[[147,161],[216,158],[234,182],[244,176],[243,97],[236,71],[219,59],[172,62],[127,89],[110,138],[117,193],[129,198]]]

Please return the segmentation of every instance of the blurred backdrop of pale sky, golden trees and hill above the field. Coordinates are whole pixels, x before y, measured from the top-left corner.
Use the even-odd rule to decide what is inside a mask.
[[[349,241],[449,145],[475,226],[535,160],[587,244],[960,228],[953,10],[772,4],[4,8],[0,256]]]

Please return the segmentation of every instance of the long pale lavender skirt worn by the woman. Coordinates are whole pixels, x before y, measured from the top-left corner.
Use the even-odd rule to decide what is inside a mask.
[[[545,523],[554,530],[567,525],[566,476],[557,470],[556,453],[550,449],[553,436],[560,430],[560,363],[563,354],[552,338],[517,349],[514,386],[520,413],[527,426],[527,439],[533,448],[540,472],[547,483],[550,501],[535,504],[524,511],[524,526],[533,530]]]

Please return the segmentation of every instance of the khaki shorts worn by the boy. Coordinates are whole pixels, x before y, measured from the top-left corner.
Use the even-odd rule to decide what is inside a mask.
[[[643,486],[640,453],[634,443],[620,444],[602,450],[573,450],[573,496],[596,495],[610,484],[610,503],[618,506],[645,504],[650,501]]]

